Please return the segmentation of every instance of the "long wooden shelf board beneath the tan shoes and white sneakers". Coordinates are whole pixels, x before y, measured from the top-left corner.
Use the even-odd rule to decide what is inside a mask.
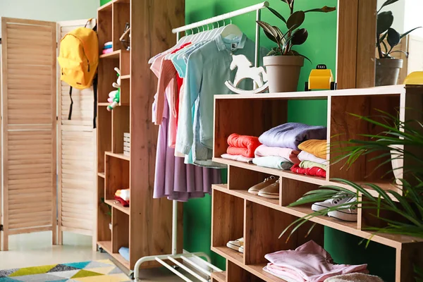
[[[243,198],[250,202],[262,204],[266,207],[270,207],[271,209],[277,209],[281,212],[284,212],[286,214],[291,214],[293,216],[303,217],[303,216],[306,216],[307,214],[312,213],[312,209],[310,208],[310,206],[281,207],[275,202],[275,200],[270,200],[270,199],[260,197],[257,195],[252,195],[246,190],[229,190],[227,188],[228,185],[226,184],[212,185],[212,187],[215,190],[225,192],[235,197]],[[370,232],[361,231],[357,229],[356,222],[341,221],[339,219],[334,219],[329,216],[316,216],[316,217],[313,217],[312,219],[309,219],[309,221],[319,223],[323,226],[329,226],[336,230],[350,233],[364,239],[371,238],[372,241],[381,243],[383,245],[388,245],[390,247],[401,247],[402,244],[423,242],[423,238],[414,238],[414,237],[405,236],[405,235],[391,235],[391,234],[372,235],[372,233]],[[281,232],[282,232],[282,229],[281,229]]]

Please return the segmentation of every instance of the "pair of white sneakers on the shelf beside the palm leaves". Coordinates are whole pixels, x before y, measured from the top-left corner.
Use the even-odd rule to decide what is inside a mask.
[[[356,197],[350,197],[349,195],[345,195],[341,192],[324,202],[315,202],[312,204],[312,211],[319,212],[323,209],[336,207],[342,204],[342,209],[328,212],[328,216],[341,219],[343,221],[357,221],[357,207],[354,204],[355,202],[357,202]]]

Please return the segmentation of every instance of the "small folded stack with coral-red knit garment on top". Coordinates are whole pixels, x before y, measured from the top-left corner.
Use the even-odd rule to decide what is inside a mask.
[[[233,133],[228,137],[228,145],[227,154],[221,155],[223,159],[250,163],[254,158],[255,150],[261,143],[258,137]]]

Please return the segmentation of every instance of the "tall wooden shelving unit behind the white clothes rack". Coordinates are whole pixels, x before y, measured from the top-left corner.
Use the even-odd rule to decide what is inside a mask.
[[[166,5],[114,0],[97,11],[99,49],[105,42],[113,42],[113,51],[100,56],[98,68],[97,245],[128,269],[133,269],[141,257],[172,251],[172,202],[153,199],[159,128],[151,122],[151,105],[157,79],[147,61],[152,54],[176,43],[171,29],[184,22],[183,13],[178,12],[183,11],[181,7],[182,0]],[[130,23],[133,31],[131,51],[119,41],[126,23]],[[109,92],[114,90],[112,83],[117,78],[115,67],[121,70],[121,102],[113,111],[107,111]],[[123,154],[123,133],[130,133],[133,140],[130,156]],[[130,207],[123,207],[114,200],[114,193],[127,188]],[[179,226],[178,252],[182,252],[182,230]],[[119,255],[120,247],[129,247],[129,261]],[[149,262],[142,264],[142,268],[158,265]]]

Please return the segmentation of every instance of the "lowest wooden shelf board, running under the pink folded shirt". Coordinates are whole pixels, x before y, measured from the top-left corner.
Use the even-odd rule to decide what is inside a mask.
[[[255,276],[263,279],[266,282],[286,282],[285,280],[273,276],[263,270],[263,267],[266,264],[257,264],[257,265],[245,265],[243,262],[243,254],[232,250],[228,247],[212,247],[212,251],[216,254],[221,255],[225,259],[228,259],[230,262],[242,267],[246,271],[254,274]]]

